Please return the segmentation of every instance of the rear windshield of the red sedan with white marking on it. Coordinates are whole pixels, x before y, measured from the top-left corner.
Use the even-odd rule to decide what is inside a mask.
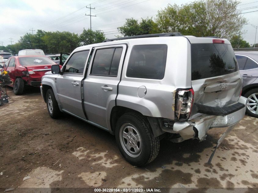
[[[21,57],[19,62],[22,66],[56,64],[48,57]]]

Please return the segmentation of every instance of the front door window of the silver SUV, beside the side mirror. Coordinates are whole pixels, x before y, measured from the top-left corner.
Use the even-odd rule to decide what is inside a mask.
[[[65,65],[65,73],[83,74],[89,50],[75,52]]]

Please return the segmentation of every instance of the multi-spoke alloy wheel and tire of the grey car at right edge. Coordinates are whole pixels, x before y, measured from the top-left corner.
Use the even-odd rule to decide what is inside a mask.
[[[256,96],[256,99],[252,95]],[[250,116],[258,118],[258,88],[254,88],[244,95],[245,98],[247,98],[247,108],[246,108],[246,113]],[[248,100],[249,99],[249,100]],[[253,101],[255,102],[253,102]],[[256,104],[256,105],[248,105],[248,104]],[[254,109],[252,109],[254,107]],[[252,111],[250,110],[252,109]]]

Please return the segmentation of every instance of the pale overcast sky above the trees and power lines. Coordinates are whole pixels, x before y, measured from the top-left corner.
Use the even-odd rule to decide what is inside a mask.
[[[125,23],[126,18],[134,19],[155,17],[157,11],[170,4],[184,4],[187,0],[1,0],[0,45],[16,43],[20,36],[33,30],[69,31],[82,33],[83,28],[90,28],[89,4],[91,4],[92,30],[103,30],[107,38],[118,35],[117,27]],[[245,5],[243,5],[245,4]],[[258,26],[258,1],[242,0],[238,9],[248,23]],[[251,13],[246,13],[251,12]],[[36,31],[33,31],[35,33]],[[255,27],[245,25],[244,40],[253,44]],[[256,38],[258,42],[258,34]]]

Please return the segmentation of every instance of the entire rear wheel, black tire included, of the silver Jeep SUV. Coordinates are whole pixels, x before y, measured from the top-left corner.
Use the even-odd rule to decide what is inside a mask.
[[[129,137],[130,132],[128,128],[133,130],[133,137]],[[123,134],[129,138],[125,138],[125,136],[123,138]],[[138,140],[139,136],[140,140]],[[159,139],[151,136],[151,126],[140,113],[126,113],[122,115],[116,123],[115,137],[120,152],[133,166],[146,165],[152,162],[158,155]],[[133,139],[136,140],[133,141]],[[135,142],[135,147],[130,146],[128,150],[125,146],[127,144],[133,145],[133,142]],[[141,151],[137,152],[138,149],[141,149]]]

